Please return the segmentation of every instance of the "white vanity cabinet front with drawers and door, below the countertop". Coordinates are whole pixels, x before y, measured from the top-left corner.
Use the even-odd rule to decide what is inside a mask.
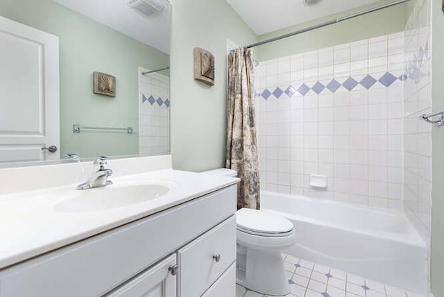
[[[234,296],[236,196],[225,187],[9,266],[0,297]]]

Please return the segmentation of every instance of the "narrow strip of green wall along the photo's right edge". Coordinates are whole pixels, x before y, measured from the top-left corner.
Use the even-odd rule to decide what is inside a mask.
[[[441,0],[432,0],[432,106],[444,110],[444,15]],[[432,292],[444,296],[444,127],[432,130]]]

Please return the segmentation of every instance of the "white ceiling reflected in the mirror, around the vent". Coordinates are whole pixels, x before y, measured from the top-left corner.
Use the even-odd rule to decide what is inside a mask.
[[[168,0],[156,0],[164,8],[146,17],[128,6],[128,0],[53,0],[62,6],[105,24],[164,53],[169,53],[170,6]]]

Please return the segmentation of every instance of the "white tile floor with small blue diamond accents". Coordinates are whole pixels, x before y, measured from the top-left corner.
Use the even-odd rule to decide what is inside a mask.
[[[287,297],[422,297],[338,269],[284,255]],[[237,285],[236,297],[267,297]]]

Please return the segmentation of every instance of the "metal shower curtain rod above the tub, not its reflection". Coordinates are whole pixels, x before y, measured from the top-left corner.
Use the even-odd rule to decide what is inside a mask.
[[[273,37],[273,38],[270,38],[268,40],[264,40],[264,41],[261,41],[261,42],[256,42],[256,43],[253,43],[253,44],[248,44],[247,46],[244,46],[244,48],[249,49],[251,47],[259,46],[259,45],[262,45],[262,44],[267,44],[267,43],[270,43],[270,42],[275,42],[275,41],[278,41],[278,40],[281,40],[281,39],[284,39],[284,38],[287,38],[287,37],[291,37],[291,36],[294,36],[294,35],[299,35],[301,33],[312,31],[312,30],[315,30],[315,29],[318,29],[318,28],[323,28],[325,26],[330,26],[332,24],[337,24],[339,22],[343,22],[343,21],[346,21],[348,19],[352,19],[354,17],[360,17],[361,15],[367,15],[370,12],[375,12],[377,10],[382,10],[382,9],[385,9],[385,8],[389,8],[391,6],[396,6],[398,4],[402,4],[402,3],[405,3],[405,2],[408,2],[408,1],[410,1],[410,0],[398,0],[398,1],[395,1],[395,2],[392,2],[392,3],[385,4],[383,6],[378,6],[376,8],[370,8],[368,10],[364,10],[364,11],[361,11],[361,12],[356,12],[356,13],[353,13],[352,15],[347,15],[345,17],[339,17],[339,19],[332,19],[331,21],[328,21],[328,22],[325,22],[325,23],[322,23],[322,24],[318,24],[318,25],[314,25],[314,26],[309,26],[307,28],[303,28],[301,30],[298,30],[298,31],[295,31],[295,32],[291,32],[291,33],[288,33],[288,34],[284,34],[284,35],[280,35],[280,36],[277,36],[277,37]]]

